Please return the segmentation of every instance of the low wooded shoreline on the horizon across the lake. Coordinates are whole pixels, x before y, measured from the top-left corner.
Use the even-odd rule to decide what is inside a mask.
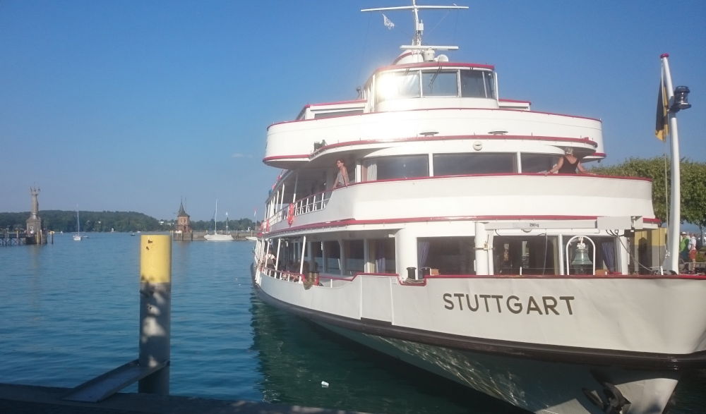
[[[42,227],[50,231],[77,231],[76,212],[62,210],[40,210]],[[0,231],[23,230],[30,212],[0,213]],[[158,220],[138,212],[78,212],[81,231],[169,231],[174,229],[174,220]],[[217,223],[218,230],[225,230],[225,221]],[[192,221],[194,230],[213,229],[213,220]],[[254,229],[251,219],[229,220],[229,230]]]

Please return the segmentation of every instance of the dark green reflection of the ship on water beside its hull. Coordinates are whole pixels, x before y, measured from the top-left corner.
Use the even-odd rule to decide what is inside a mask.
[[[251,304],[264,401],[369,413],[525,413],[341,339],[254,294]]]

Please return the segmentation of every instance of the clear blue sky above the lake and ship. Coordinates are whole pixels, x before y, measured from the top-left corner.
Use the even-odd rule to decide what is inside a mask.
[[[706,1],[455,0],[427,44],[491,63],[501,97],[601,118],[608,158],[654,157],[659,55],[692,90],[681,154],[706,161]],[[0,0],[0,212],[120,210],[253,217],[279,172],[265,128],[354,99],[412,36],[375,1]],[[421,0],[421,4],[450,4]]]

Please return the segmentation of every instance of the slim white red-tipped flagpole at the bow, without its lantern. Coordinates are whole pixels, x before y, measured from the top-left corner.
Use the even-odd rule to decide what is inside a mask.
[[[662,79],[666,89],[667,102],[674,100],[674,87],[671,84],[669,72],[669,54],[659,56],[662,59]],[[671,143],[671,202],[669,219],[667,221],[667,250],[669,260],[666,260],[666,270],[679,272],[679,225],[681,224],[681,174],[679,156],[679,133],[676,128],[676,111],[669,110],[669,138]]]

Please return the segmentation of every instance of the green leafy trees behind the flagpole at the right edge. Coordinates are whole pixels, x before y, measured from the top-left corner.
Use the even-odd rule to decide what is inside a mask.
[[[682,159],[681,222],[695,224],[703,233],[706,227],[706,163]],[[671,168],[662,157],[630,158],[614,166],[597,166],[591,172],[611,176],[646,177],[652,179],[652,205],[658,219],[666,221],[667,184],[671,185]]]

